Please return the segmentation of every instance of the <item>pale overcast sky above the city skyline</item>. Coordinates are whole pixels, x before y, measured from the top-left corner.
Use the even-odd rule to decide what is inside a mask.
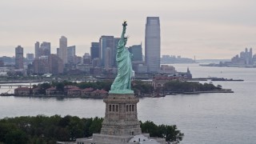
[[[255,0],[2,0],[0,57],[14,56],[18,45],[26,57],[35,42],[51,42],[56,54],[62,35],[82,56],[102,35],[119,37],[124,20],[127,46],[142,43],[145,53],[146,17],[157,16],[161,55],[230,59],[246,47],[256,51],[255,6]]]

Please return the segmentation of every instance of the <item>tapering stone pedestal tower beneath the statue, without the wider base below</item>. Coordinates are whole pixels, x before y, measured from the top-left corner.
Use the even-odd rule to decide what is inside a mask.
[[[110,94],[104,99],[106,113],[101,134],[138,135],[142,134],[138,122],[138,98],[134,94]]]

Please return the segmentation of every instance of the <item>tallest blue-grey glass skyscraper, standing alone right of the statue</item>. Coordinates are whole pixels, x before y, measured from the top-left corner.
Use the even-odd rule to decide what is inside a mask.
[[[145,61],[149,73],[160,69],[160,20],[159,17],[146,18]]]

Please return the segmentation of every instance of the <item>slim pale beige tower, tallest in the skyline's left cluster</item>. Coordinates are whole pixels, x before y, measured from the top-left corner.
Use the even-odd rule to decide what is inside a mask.
[[[63,64],[67,63],[67,38],[62,36],[59,38],[59,56],[62,58]]]

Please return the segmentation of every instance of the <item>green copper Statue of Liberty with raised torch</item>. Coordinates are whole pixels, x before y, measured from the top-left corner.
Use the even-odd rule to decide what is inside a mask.
[[[129,50],[126,48],[127,37],[126,34],[126,21],[122,23],[122,35],[118,42],[118,51],[116,61],[118,63],[118,75],[114,79],[109,94],[134,94],[131,90],[131,77],[133,69],[131,65],[131,57]]]

